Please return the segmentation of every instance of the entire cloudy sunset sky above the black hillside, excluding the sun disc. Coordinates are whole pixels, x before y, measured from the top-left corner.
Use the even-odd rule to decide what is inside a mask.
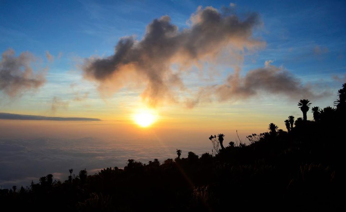
[[[269,123],[285,129],[299,99],[333,105],[345,4],[1,0],[0,163],[12,171],[0,185],[62,176],[66,163],[211,152],[210,134],[246,142]],[[143,111],[148,127],[134,120]],[[37,172],[19,174],[24,160]]]

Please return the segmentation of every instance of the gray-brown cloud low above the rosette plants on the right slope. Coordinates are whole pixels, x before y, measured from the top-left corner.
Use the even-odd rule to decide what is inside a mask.
[[[240,75],[240,68],[236,67],[234,74],[229,75],[224,84],[200,88],[194,98],[185,102],[186,107],[193,108],[215,98],[220,102],[247,99],[262,92],[294,99],[316,99],[330,95],[328,91],[316,91],[316,86],[304,85],[288,70],[271,65],[272,62],[266,61],[263,68],[250,70],[244,77]]]

